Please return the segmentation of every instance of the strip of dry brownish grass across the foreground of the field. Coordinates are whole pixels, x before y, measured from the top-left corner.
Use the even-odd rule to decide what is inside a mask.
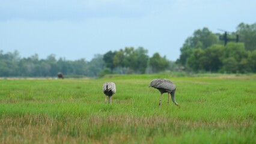
[[[115,143],[153,142],[154,136],[181,136],[184,131],[255,128],[255,122],[190,121],[163,116],[47,115],[1,116],[1,143]],[[254,125],[254,126],[253,126]]]

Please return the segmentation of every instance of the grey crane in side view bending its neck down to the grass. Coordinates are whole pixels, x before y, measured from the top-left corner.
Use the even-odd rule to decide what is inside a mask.
[[[168,103],[169,103],[170,94],[171,94],[171,99],[172,99],[173,103],[176,106],[180,106],[175,101],[176,86],[170,80],[168,80],[168,79],[154,79],[150,82],[150,85],[148,87],[153,87],[153,88],[156,88],[160,91],[159,106],[161,105],[162,94],[165,93],[165,92],[168,92]]]

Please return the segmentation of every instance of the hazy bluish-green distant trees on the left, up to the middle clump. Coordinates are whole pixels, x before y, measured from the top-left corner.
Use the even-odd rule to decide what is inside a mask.
[[[71,77],[96,77],[104,68],[102,55],[95,55],[88,62],[85,59],[56,60],[55,55],[49,55],[46,59],[39,59],[37,54],[29,58],[20,58],[17,51],[0,51],[0,77],[57,77],[58,72]]]

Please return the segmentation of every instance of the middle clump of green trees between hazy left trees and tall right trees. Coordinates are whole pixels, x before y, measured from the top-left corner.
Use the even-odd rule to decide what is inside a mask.
[[[109,51],[103,56],[108,59],[104,59],[106,67],[112,72],[118,71],[120,74],[124,73],[146,73],[147,68],[153,69],[153,73],[164,71],[168,69],[170,62],[165,58],[161,57],[159,53],[154,53],[152,58],[147,55],[148,50],[143,47],[125,47],[118,51]],[[157,55],[157,56],[156,56]],[[156,58],[157,57],[157,58]],[[111,61],[109,59],[112,59]],[[111,63],[112,62],[112,63]],[[162,63],[163,62],[163,63]],[[148,71],[150,73],[150,71]]]

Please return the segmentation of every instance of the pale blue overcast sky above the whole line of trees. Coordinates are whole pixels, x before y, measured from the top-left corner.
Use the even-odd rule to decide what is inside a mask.
[[[255,0],[0,0],[0,50],[90,61],[141,46],[175,61],[195,30],[241,22],[256,22]]]

